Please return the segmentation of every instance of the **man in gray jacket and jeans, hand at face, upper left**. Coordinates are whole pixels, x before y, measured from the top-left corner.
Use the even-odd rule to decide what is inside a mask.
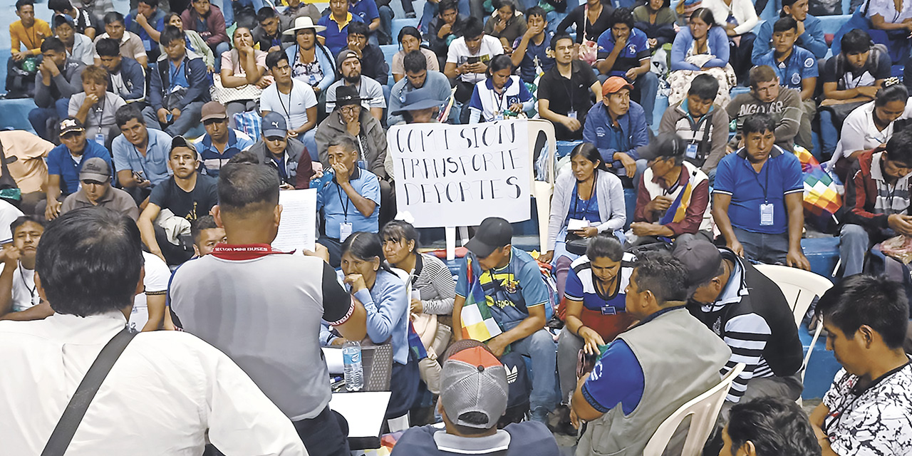
[[[41,44],[44,60],[35,77],[36,109],[28,113],[28,121],[38,136],[50,140],[47,120],[67,119],[69,98],[82,91],[82,62],[67,57],[67,47],[55,36]]]

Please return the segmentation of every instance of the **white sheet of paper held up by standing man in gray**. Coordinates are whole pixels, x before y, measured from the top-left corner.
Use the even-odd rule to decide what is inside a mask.
[[[279,192],[282,220],[273,248],[283,252],[314,250],[316,244],[316,189]]]

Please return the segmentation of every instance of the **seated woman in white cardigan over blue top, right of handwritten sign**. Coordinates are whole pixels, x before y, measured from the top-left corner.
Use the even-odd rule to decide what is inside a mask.
[[[588,142],[576,146],[570,152],[570,163],[573,172],[561,173],[554,182],[548,218],[550,249],[539,257],[539,261],[554,266],[557,294],[562,298],[570,263],[582,254],[568,252],[567,242],[585,246],[583,239],[603,232],[624,239],[622,230],[627,222],[623,184],[617,175],[607,171],[596,146]],[[571,222],[588,226],[568,230]]]

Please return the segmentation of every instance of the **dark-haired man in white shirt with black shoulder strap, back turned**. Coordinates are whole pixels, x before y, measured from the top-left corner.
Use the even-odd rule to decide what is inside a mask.
[[[35,285],[55,314],[0,322],[0,441],[39,454],[101,348],[142,291],[140,232],[102,208],[50,223]],[[91,400],[67,455],[306,455],[295,428],[231,359],[191,334],[133,337]]]

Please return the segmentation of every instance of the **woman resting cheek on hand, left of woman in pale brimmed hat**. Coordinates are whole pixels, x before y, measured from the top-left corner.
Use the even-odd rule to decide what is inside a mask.
[[[250,29],[246,27],[237,27],[234,29],[232,36],[234,48],[231,52],[224,53],[222,58],[222,69],[219,71],[219,78],[215,81],[215,90],[236,88],[236,94],[231,94],[227,103],[224,103],[225,111],[228,113],[228,125],[235,128],[234,114],[256,109],[259,101],[259,90],[244,90],[248,85],[256,88],[266,88],[273,83],[272,76],[264,76],[266,73],[266,53],[259,49],[254,49],[254,36]],[[219,88],[222,86],[222,88]],[[242,92],[242,90],[244,90]],[[230,90],[226,90],[230,92]],[[255,98],[241,98],[242,93],[256,93]],[[212,92],[213,94],[216,92]]]

